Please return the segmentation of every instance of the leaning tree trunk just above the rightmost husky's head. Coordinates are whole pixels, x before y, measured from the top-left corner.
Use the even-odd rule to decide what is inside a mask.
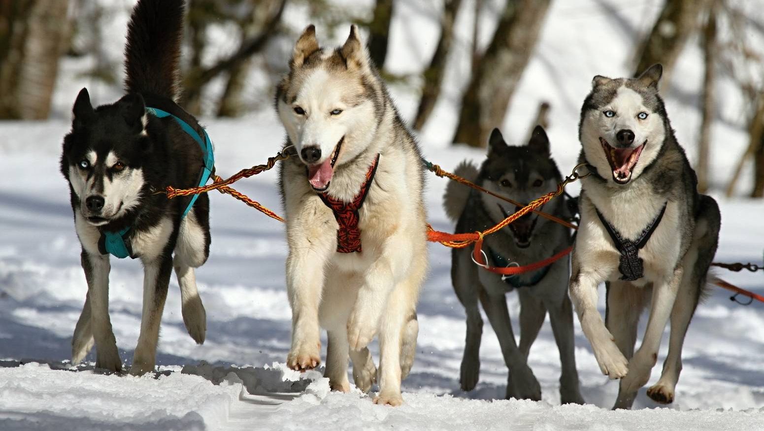
[[[663,65],[662,87],[669,83],[679,53],[688,37],[698,28],[698,12],[707,0],[665,0],[652,31],[641,44],[635,57],[634,76],[639,76],[655,63]]]

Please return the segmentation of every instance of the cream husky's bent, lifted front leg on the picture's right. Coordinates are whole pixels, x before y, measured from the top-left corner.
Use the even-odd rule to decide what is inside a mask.
[[[364,275],[364,284],[358,290],[358,298],[348,318],[348,342],[352,350],[361,350],[377,335],[380,316],[394,286],[392,265],[383,255]]]

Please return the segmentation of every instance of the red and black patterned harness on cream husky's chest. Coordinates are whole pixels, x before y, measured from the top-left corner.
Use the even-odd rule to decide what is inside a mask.
[[[337,252],[338,253],[361,253],[361,228],[358,227],[358,211],[364,205],[371,181],[374,180],[374,173],[377,172],[377,163],[380,155],[374,157],[374,163],[371,164],[366,173],[366,181],[361,185],[361,190],[355,195],[349,203],[342,202],[340,199],[333,198],[327,193],[319,194],[321,200],[329,206],[334,212],[337,220]]]

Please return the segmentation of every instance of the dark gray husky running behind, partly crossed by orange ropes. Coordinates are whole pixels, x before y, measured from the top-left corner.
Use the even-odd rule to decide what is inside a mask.
[[[562,180],[560,172],[549,154],[549,139],[544,129],[537,126],[527,145],[510,147],[499,129],[490,134],[488,157],[478,170],[474,165],[462,163],[456,170],[461,177],[484,188],[527,203],[550,190]],[[445,193],[445,210],[457,221],[456,232],[484,230],[507,218],[517,209],[494,196],[471,190],[458,183],[449,183]],[[563,199],[555,199],[542,207],[552,215],[565,218],[568,210]],[[568,228],[529,213],[494,235],[485,238],[483,251],[487,263],[505,267],[541,261],[571,244]],[[528,352],[546,312],[552,322],[562,361],[560,395],[562,403],[584,403],[578,390],[578,372],[575,367],[573,344],[573,309],[567,293],[568,258],[562,258],[548,267],[527,274],[502,277],[484,271],[474,264],[471,248],[455,248],[452,252],[452,282],[461,304],[467,312],[467,342],[461,361],[461,388],[472,390],[478,383],[480,358],[478,356],[483,332],[483,320],[478,300],[496,332],[501,352],[510,376],[507,398],[541,400],[541,387],[527,364]],[[520,296],[520,347],[518,348],[507,310],[506,293],[517,290]]]

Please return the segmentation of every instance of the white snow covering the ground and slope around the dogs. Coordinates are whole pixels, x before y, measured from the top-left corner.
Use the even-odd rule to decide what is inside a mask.
[[[428,22],[437,11],[432,4],[402,3],[400,18],[394,22],[402,27],[393,28],[398,36],[391,45],[390,58],[395,60],[388,64],[390,70],[411,73],[429,60],[436,37],[427,30],[435,26]],[[626,8],[604,0],[555,2],[538,52],[513,99],[505,135],[515,141],[523,138],[536,105],[549,100],[553,153],[563,171],[571,169],[579,148],[578,109],[591,76],[628,73],[633,34],[649,26],[657,4]],[[601,5],[615,8],[623,18],[620,26],[603,18]],[[471,18],[463,14],[459,20],[460,31],[468,34]],[[302,26],[303,22],[297,25]],[[419,44],[406,43],[411,28],[425,34]],[[598,34],[611,37],[604,43]],[[458,52],[467,52],[466,41],[468,36],[463,35]],[[592,55],[595,45],[601,50]],[[686,50],[675,72],[686,79],[672,80],[667,99],[678,138],[690,154],[698,128],[693,79],[701,74],[699,56],[696,47]],[[447,78],[453,88],[421,136],[426,157],[445,169],[465,157],[482,157],[481,151],[447,144],[457,89],[464,80],[464,73],[459,73],[463,59],[455,57]],[[569,64],[563,67],[558,60]],[[718,288],[699,307],[689,329],[676,403],[669,408],[656,408],[641,390],[636,410],[607,410],[617,383],[601,375],[578,322],[576,358],[589,405],[559,406],[560,368],[548,322],[529,355],[542,385],[541,402],[502,400],[507,368],[487,325],[481,381],[473,392],[461,392],[458,370],[465,315],[452,292],[449,251],[441,245],[429,249],[431,271],[419,302],[419,351],[403,384],[403,407],[375,406],[358,392],[329,393],[319,372],[299,375],[283,368],[290,343],[283,227],[217,193],[211,196],[211,257],[197,272],[207,310],[206,343],[195,345],[186,334],[173,279],[157,356],[160,373],[154,378],[103,375],[92,371],[92,362],[70,370],[65,361],[86,284],[58,157],[61,138],[70,127],[70,104],[88,83],[77,77],[76,61],[63,66],[56,118],[0,122],[0,172],[5,178],[0,183],[0,359],[5,359],[0,361],[0,429],[764,429],[764,304],[740,306]],[[416,108],[410,89],[395,88],[393,94],[410,118]],[[717,186],[727,180],[727,168],[746,143],[736,93],[730,89],[724,94],[714,124]],[[103,91],[94,102],[111,102],[112,96]],[[267,111],[236,121],[209,120],[206,125],[224,177],[262,163],[274,154],[283,136]],[[426,195],[429,220],[442,230],[452,228],[441,209],[445,181],[428,177]],[[243,180],[236,187],[280,212],[274,172]],[[717,261],[760,263],[762,201],[717,199],[723,216]],[[740,287],[764,292],[760,273],[719,274]],[[112,261],[111,280],[112,322],[121,357],[129,362],[141,318],[140,264]],[[514,295],[507,301],[517,328],[519,303]],[[659,377],[666,344],[649,384]],[[376,356],[376,345],[372,347]],[[94,361],[94,356],[86,361]]]

